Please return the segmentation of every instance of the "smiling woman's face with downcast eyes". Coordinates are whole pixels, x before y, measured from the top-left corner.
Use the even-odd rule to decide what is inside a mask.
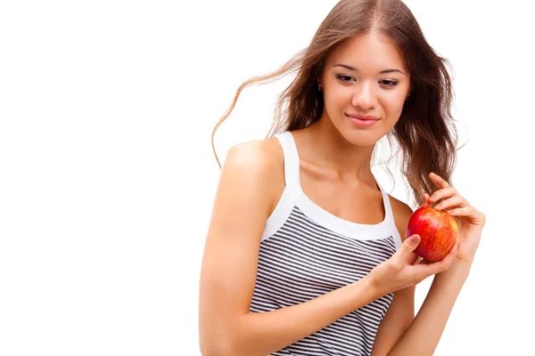
[[[348,142],[371,146],[398,122],[410,76],[396,47],[372,32],[336,47],[325,62],[320,83],[325,101],[322,119],[330,120]]]

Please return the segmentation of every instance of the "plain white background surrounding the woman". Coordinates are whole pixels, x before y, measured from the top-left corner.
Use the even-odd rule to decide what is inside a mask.
[[[0,354],[200,354],[211,129],[237,87],[306,47],[335,3],[0,4]],[[488,217],[436,355],[532,352],[529,4],[407,1],[453,63],[468,140],[454,184]],[[287,83],[243,93],[219,158],[264,138]]]

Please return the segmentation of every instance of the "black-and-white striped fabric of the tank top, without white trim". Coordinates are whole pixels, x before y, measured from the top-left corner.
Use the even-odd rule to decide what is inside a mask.
[[[305,303],[366,276],[396,252],[393,236],[353,239],[329,230],[293,206],[259,248],[251,312]],[[369,355],[393,294],[384,295],[273,355]]]

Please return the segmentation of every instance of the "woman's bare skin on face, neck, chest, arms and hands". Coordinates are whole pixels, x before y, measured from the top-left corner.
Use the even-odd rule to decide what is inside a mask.
[[[338,63],[358,70],[333,68]],[[381,74],[385,69],[399,69],[403,74]],[[340,75],[343,77],[337,77]],[[371,154],[374,143],[399,119],[409,93],[409,74],[396,48],[383,36],[371,33],[337,47],[318,80],[325,97],[323,115],[317,123],[292,132],[300,153],[301,187],[331,214],[355,223],[379,223],[385,212],[371,172]],[[399,84],[391,88],[390,81]],[[380,120],[362,129],[352,125],[345,114],[373,115]],[[305,303],[251,313],[260,238],[284,190],[284,155],[276,138],[233,146],[221,170],[202,257],[202,354],[276,352],[394,292],[372,354],[432,355],[470,270],[484,215],[448,182],[432,174],[430,178],[439,189],[432,199],[442,199],[443,208],[455,211],[461,247],[453,247],[438,263],[419,263],[413,252],[419,238],[411,236],[363,279]],[[425,197],[425,204],[431,206],[429,195]],[[412,210],[392,197],[391,206],[399,235],[405,237]],[[415,318],[415,286],[437,273]]]

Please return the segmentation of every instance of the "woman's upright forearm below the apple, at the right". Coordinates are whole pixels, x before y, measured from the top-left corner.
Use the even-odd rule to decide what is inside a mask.
[[[465,284],[470,264],[456,261],[437,274],[415,320],[389,352],[389,356],[432,355],[446,327],[457,295]]]

